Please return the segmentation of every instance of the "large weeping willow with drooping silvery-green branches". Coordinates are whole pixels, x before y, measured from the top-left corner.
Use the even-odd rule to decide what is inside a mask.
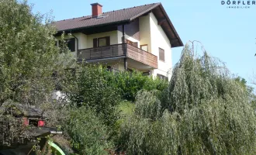
[[[167,90],[156,98],[147,91],[137,95],[134,113],[121,134],[127,139],[121,144],[128,153],[256,152],[256,117],[247,89],[205,50],[202,56],[196,55],[193,45],[187,44],[182,51]],[[159,102],[161,108],[156,108]]]

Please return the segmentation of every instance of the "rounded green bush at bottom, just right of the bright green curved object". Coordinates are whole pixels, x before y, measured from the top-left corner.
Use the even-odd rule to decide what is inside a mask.
[[[113,147],[108,140],[108,127],[94,110],[85,106],[71,110],[66,130],[78,154],[108,154],[106,149]]]

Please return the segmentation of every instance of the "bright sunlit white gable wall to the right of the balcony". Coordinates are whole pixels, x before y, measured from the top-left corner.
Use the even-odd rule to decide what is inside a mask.
[[[164,30],[161,26],[158,25],[157,19],[154,14],[151,12],[149,14],[150,19],[150,50],[151,53],[157,56],[158,58],[158,69],[152,72],[153,76],[157,74],[162,74],[167,76],[169,80],[171,79],[171,43],[168,40],[168,36],[164,33]],[[164,49],[164,61],[159,60],[159,47]]]

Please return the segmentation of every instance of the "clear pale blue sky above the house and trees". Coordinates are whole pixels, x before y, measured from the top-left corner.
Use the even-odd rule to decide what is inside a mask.
[[[71,19],[92,13],[91,3],[103,12],[161,2],[183,43],[199,40],[213,57],[227,64],[234,74],[251,82],[256,74],[256,5],[250,9],[227,9],[221,0],[29,0],[33,12],[53,11],[54,19]],[[227,1],[226,1],[227,2]],[[182,47],[172,49],[173,65]]]

